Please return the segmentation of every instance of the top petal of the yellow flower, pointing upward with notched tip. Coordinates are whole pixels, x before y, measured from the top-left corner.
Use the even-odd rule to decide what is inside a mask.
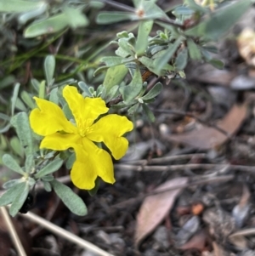
[[[86,127],[89,127],[99,115],[108,111],[104,100],[101,98],[83,98],[74,86],[65,86],[63,96],[75,117],[77,127],[84,123],[86,123]]]

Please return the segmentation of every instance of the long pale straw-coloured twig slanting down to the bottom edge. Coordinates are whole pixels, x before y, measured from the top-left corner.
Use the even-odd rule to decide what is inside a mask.
[[[104,250],[102,250],[101,248],[95,246],[93,243],[85,241],[81,237],[76,236],[76,235],[72,234],[71,232],[68,232],[68,231],[60,228],[57,225],[54,225],[53,223],[49,222],[46,219],[42,219],[41,217],[37,216],[34,213],[29,212],[26,214],[20,214],[20,216],[22,216],[23,218],[29,219],[29,220],[37,223],[38,225],[41,225],[43,228],[45,228],[46,230],[50,230],[57,236],[62,236],[63,238],[76,243],[80,247],[83,247],[91,252],[97,253],[99,256],[114,256],[113,254],[107,253]]]

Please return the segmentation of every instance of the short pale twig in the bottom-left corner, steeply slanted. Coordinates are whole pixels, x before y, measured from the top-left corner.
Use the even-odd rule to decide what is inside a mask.
[[[14,247],[16,247],[18,253],[20,256],[26,256],[26,252],[24,247],[22,246],[22,243],[20,242],[20,237],[18,236],[15,228],[14,228],[14,224],[12,223],[9,215],[8,215],[8,211],[5,207],[1,207],[0,208],[3,219],[8,227],[8,231],[10,233],[11,239],[14,242]]]

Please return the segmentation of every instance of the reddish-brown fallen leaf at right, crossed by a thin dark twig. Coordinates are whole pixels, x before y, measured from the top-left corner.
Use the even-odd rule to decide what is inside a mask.
[[[233,105],[226,116],[217,123],[229,135],[235,134],[246,117],[246,104]],[[195,148],[208,150],[224,144],[228,137],[216,128],[201,126],[187,134],[168,135],[167,139],[191,145]]]

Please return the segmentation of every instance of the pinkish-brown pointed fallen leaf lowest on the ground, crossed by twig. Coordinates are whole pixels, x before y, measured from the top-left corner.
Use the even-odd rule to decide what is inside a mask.
[[[155,191],[163,191],[171,189],[176,185],[184,185],[188,182],[188,178],[176,178],[165,182],[158,186]],[[175,189],[173,191],[162,192],[153,196],[147,196],[139,209],[137,216],[137,225],[135,230],[135,245],[139,247],[145,236],[155,230],[156,226],[166,217],[167,213],[173,207],[176,196],[183,189]]]

